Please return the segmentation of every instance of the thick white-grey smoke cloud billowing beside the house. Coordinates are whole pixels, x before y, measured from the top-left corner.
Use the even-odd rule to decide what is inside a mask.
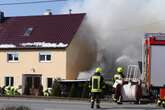
[[[164,0],[73,0],[62,11],[87,13],[88,37],[97,42],[98,59],[109,71],[141,60],[146,32],[165,32],[164,6]]]

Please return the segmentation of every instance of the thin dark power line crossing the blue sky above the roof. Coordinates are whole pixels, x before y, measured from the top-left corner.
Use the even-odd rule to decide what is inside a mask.
[[[49,2],[60,2],[67,0],[47,0],[47,1],[35,1],[35,2],[15,2],[15,3],[1,3],[0,5],[24,5],[24,4],[36,4],[36,3],[49,3]]]

